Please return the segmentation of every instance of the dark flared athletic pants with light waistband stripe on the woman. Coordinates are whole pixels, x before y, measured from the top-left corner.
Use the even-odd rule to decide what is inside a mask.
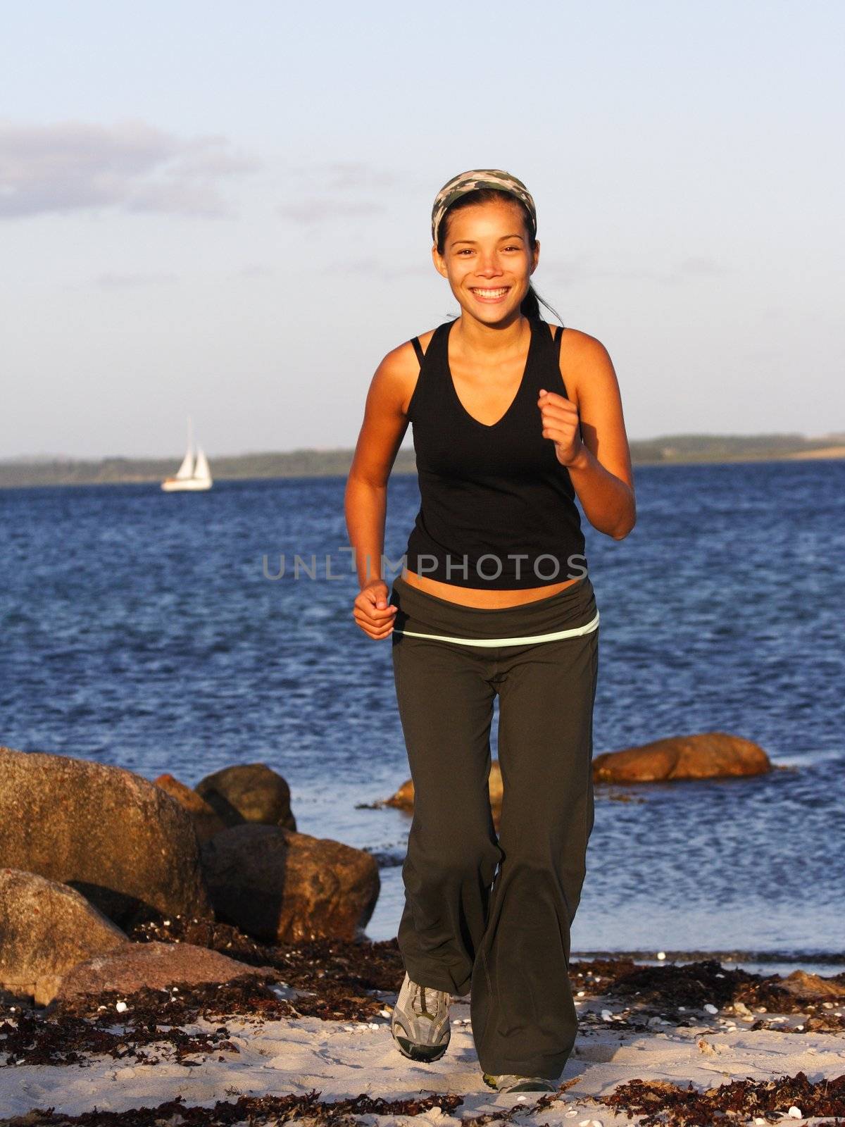
[[[558,1080],[576,1039],[570,926],[593,829],[593,706],[598,628],[558,641],[478,647],[590,622],[588,576],[523,606],[461,606],[393,582],[399,713],[413,780],[398,941],[422,986],[471,993],[479,1064]],[[488,792],[499,696],[504,801]],[[498,868],[497,868],[498,867]]]

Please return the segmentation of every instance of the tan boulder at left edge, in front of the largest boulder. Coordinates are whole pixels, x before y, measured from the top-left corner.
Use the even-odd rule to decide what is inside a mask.
[[[0,986],[46,1005],[78,962],[128,943],[84,896],[20,869],[0,869]]]

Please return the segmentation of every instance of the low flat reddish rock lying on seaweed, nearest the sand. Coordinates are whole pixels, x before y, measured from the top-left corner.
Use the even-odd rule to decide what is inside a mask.
[[[127,943],[112,955],[80,962],[61,980],[55,997],[61,1001],[79,994],[99,995],[108,990],[133,994],[144,986],[167,990],[177,983],[198,986],[242,977],[275,979],[278,971],[250,967],[193,943]]]

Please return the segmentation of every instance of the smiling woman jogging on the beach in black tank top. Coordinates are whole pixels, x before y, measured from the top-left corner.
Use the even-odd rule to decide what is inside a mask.
[[[437,195],[432,237],[460,317],[379,365],[346,489],[353,615],[392,638],[415,788],[391,1029],[406,1056],[436,1061],[451,999],[469,991],[484,1082],[553,1091],[577,1032],[570,926],[593,828],[598,612],[575,495],[622,540],[631,458],[607,352],[540,318],[525,185],[462,172]],[[409,421],[421,506],[389,603],[386,482]]]

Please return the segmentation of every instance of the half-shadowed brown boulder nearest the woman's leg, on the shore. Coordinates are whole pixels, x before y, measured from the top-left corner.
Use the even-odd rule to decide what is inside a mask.
[[[233,826],[203,845],[219,919],[269,943],[354,940],[379,898],[375,858],[279,826]]]

